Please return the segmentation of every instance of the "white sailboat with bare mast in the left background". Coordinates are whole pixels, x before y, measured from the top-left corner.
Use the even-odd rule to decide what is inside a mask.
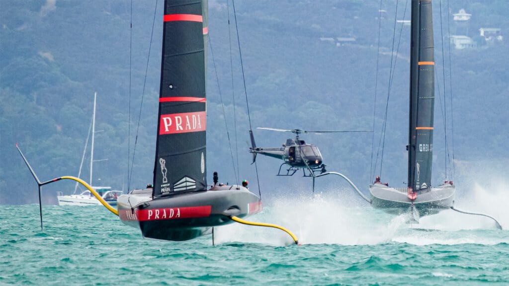
[[[81,176],[81,168],[83,167],[83,161],[85,158],[85,153],[87,151],[87,146],[89,142],[90,134],[92,133],[92,141],[91,141],[91,151],[90,151],[90,182],[92,183],[92,175],[93,175],[93,165],[94,165],[94,134],[95,134],[95,113],[96,113],[96,100],[97,93],[94,94],[94,112],[92,115],[92,123],[89,128],[89,134],[87,136],[87,141],[85,142],[85,148],[83,149],[83,156],[81,157],[81,164],[79,166],[78,178]],[[92,131],[91,131],[92,130]],[[101,160],[102,161],[102,160]],[[96,192],[98,192],[102,198],[108,202],[111,206],[117,205],[117,197],[123,194],[123,191],[111,190],[111,187],[103,187],[103,186],[93,186],[92,187]],[[90,205],[101,205],[97,198],[89,191],[85,190],[79,194],[77,194],[78,183],[74,187],[74,192],[71,195],[64,195],[63,192],[57,192],[56,197],[59,201],[59,206],[90,206]]]

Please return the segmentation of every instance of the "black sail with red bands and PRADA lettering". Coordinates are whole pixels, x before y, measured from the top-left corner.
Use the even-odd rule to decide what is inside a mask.
[[[166,0],[154,197],[207,188],[204,17],[200,0]]]

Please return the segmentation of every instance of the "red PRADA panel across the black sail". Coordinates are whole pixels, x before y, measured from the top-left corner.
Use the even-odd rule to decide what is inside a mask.
[[[159,135],[199,132],[207,130],[205,111],[161,115]]]

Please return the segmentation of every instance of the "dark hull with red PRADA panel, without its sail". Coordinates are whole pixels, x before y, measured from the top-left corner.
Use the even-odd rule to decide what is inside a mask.
[[[131,207],[132,206],[132,207]],[[152,190],[134,190],[118,198],[119,217],[146,238],[184,241],[210,234],[213,226],[260,212],[260,198],[240,186],[152,199]]]

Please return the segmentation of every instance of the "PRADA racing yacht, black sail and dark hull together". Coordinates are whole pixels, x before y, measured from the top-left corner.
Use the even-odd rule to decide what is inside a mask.
[[[120,219],[147,238],[182,241],[261,210],[246,187],[207,185],[207,1],[166,0],[153,188],[118,198]]]

